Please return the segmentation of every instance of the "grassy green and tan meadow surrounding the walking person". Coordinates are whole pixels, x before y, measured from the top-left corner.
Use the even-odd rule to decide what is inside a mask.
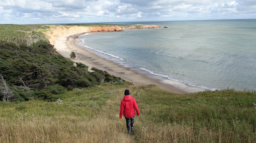
[[[119,119],[129,89],[141,115],[135,135]],[[0,103],[1,143],[253,143],[256,93],[204,91],[174,94],[155,85],[73,89],[56,102]]]

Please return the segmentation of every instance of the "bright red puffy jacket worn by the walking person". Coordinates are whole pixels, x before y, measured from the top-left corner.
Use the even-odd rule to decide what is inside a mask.
[[[135,116],[134,109],[136,110],[137,115],[139,116],[139,107],[137,105],[136,100],[130,95],[125,95],[121,100],[119,118],[121,119],[123,115],[127,118]]]

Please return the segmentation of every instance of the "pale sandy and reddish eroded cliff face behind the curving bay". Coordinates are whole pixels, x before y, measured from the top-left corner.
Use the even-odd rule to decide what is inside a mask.
[[[161,28],[160,25],[140,25],[140,26],[128,26],[125,29],[138,29],[138,28]],[[119,26],[54,26],[50,30],[43,32],[48,36],[50,44],[54,44],[54,41],[62,35],[70,33],[83,33],[83,32],[112,32],[123,31],[123,28]]]

